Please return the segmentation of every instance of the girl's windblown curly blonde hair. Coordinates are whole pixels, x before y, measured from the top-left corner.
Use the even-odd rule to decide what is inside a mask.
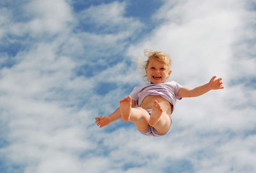
[[[144,52],[144,56],[147,58],[147,61],[144,61],[143,65],[141,65],[141,63],[139,63],[139,66],[143,67],[143,70],[148,67],[148,63],[150,62],[151,59],[156,59],[158,61],[161,61],[166,66],[168,66],[168,68],[170,70],[170,68],[172,66],[172,59],[170,59],[170,57],[167,54],[165,54],[164,52],[161,52],[161,51],[153,51],[150,49],[145,49],[145,50],[143,50],[143,52]],[[143,80],[149,81],[147,74],[143,75]]]

